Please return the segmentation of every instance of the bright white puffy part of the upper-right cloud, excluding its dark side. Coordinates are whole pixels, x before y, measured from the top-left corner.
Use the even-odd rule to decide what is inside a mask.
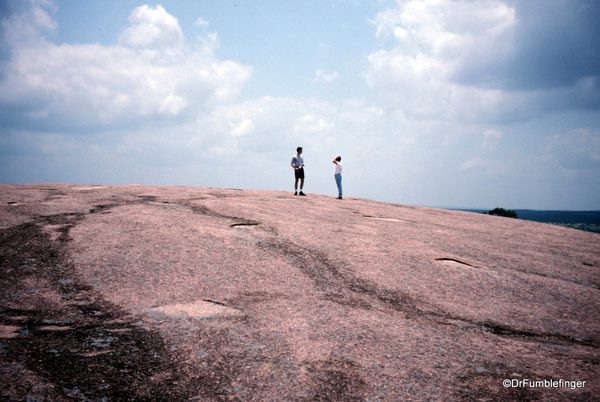
[[[372,22],[395,46],[368,58],[365,77],[409,116],[481,119],[510,107],[498,89],[454,82],[465,64],[495,60],[510,50],[515,10],[500,1],[398,2]]]

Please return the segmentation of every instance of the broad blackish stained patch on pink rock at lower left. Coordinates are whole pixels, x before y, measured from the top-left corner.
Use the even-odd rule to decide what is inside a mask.
[[[80,219],[82,214],[59,214],[41,218],[40,223],[66,223],[70,228]],[[20,327],[20,336],[2,340],[8,346],[0,354],[0,373],[8,370],[11,378],[22,378],[25,384],[16,387],[0,378],[4,397],[227,400],[224,387],[239,371],[239,361],[207,358],[209,372],[190,372],[178,365],[157,332],[133,325],[128,313],[78,278],[68,261],[68,237],[52,241],[40,223],[0,230],[0,325]],[[51,286],[60,299],[48,305],[43,296],[27,292],[29,279]],[[11,307],[25,297],[33,308]],[[56,329],[47,329],[49,324]],[[210,334],[213,343],[228,342],[214,335]],[[26,386],[40,379],[48,386]]]

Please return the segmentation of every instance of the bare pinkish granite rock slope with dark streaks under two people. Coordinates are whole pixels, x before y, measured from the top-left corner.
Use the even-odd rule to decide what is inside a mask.
[[[598,234],[324,195],[38,184],[0,185],[0,236],[3,400],[600,395]]]

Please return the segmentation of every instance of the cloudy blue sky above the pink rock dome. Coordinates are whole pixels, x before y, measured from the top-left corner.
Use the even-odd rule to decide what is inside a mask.
[[[0,0],[0,182],[600,210],[597,0]]]

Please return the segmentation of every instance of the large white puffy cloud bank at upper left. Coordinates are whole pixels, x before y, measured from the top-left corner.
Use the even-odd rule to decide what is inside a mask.
[[[216,33],[189,43],[161,6],[133,10],[113,46],[53,44],[44,36],[56,28],[50,11],[33,4],[2,23],[11,54],[0,81],[5,125],[119,126],[199,113],[234,97],[252,74],[216,57]]]

